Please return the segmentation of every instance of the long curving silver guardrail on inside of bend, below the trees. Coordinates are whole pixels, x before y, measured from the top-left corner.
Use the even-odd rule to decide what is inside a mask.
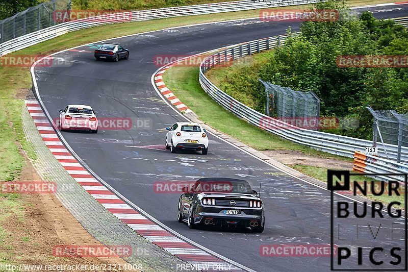
[[[408,23],[408,17],[397,19],[398,23]],[[291,34],[297,35],[297,34]],[[236,116],[247,120],[255,126],[266,131],[281,136],[287,140],[307,145],[313,149],[321,150],[330,154],[353,157],[355,151],[365,152],[366,146],[372,146],[372,141],[352,138],[342,135],[330,134],[325,132],[313,131],[298,128],[274,119],[237,101],[232,96],[226,94],[215,86],[205,75],[211,67],[222,64],[225,61],[234,61],[243,56],[259,53],[263,50],[269,50],[281,44],[284,44],[287,35],[274,36],[261,40],[254,40],[238,45],[233,45],[224,50],[212,54],[205,58],[200,64],[199,82],[201,87],[223,108],[231,111]],[[386,157],[384,146],[378,147],[378,155]],[[387,154],[390,160],[396,160],[398,146],[385,144]],[[408,163],[408,147],[401,149],[401,163]]]

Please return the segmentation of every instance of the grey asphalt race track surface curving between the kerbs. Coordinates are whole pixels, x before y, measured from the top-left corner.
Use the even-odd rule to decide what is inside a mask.
[[[408,5],[371,8],[377,17],[408,15]],[[154,21],[152,21],[152,27]],[[35,67],[41,100],[53,118],[67,104],[88,104],[98,117],[149,120],[131,130],[99,130],[98,134],[63,132],[74,152],[105,182],[127,199],[185,237],[256,271],[327,271],[329,258],[262,257],[262,244],[328,244],[329,192],[296,180],[210,135],[209,153],[171,154],[164,148],[165,127],[184,119],[166,105],[151,85],[158,55],[192,55],[249,40],[284,34],[298,22],[258,19],[209,23],[113,39],[129,48],[129,60],[98,62],[95,43],[56,57],[67,67]],[[114,31],[115,27],[112,26]],[[262,182],[266,228],[190,230],[176,221],[177,193],[156,193],[157,181],[195,181],[201,177],[248,180],[256,190]],[[366,218],[375,226],[375,220]],[[347,241],[352,243],[353,236]],[[347,242],[345,242],[347,243]],[[367,245],[370,244],[367,238]]]

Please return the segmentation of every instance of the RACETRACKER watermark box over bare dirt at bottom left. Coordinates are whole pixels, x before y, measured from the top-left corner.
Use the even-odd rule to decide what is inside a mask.
[[[87,257],[130,257],[130,245],[56,245],[53,249],[55,257],[87,258]]]

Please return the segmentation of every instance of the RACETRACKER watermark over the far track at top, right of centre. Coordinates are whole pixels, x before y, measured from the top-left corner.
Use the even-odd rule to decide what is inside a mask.
[[[322,21],[339,20],[338,10],[277,10],[263,9],[259,12],[261,21]]]

